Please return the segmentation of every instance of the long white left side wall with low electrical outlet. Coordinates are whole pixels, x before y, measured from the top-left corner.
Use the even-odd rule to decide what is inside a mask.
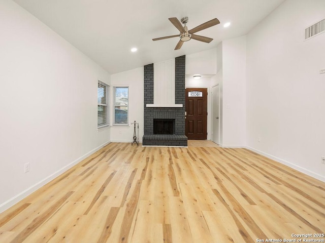
[[[109,142],[97,82],[110,75],[11,0],[0,16],[1,212]]]

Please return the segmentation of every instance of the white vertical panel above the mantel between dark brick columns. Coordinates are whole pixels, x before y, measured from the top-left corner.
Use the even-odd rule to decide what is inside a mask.
[[[175,104],[175,59],[153,64],[153,103]]]

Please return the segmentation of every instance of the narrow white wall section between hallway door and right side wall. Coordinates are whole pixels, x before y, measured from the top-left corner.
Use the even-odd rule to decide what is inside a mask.
[[[246,145],[246,36],[222,42],[222,146]]]

